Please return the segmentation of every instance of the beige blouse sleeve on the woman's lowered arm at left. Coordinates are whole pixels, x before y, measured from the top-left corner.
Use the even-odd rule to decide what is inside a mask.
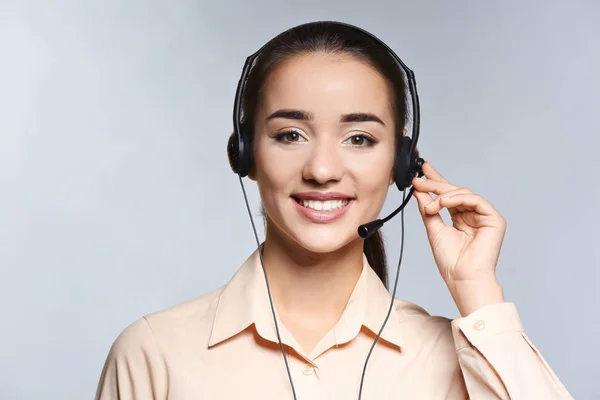
[[[145,318],[115,340],[100,375],[96,400],[167,398],[167,368]]]

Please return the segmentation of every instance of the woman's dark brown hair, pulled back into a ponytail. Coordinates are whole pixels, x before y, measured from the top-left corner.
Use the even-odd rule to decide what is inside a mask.
[[[254,63],[244,90],[241,120],[242,129],[249,133],[251,146],[256,108],[267,76],[290,57],[313,52],[350,55],[366,62],[386,79],[394,110],[396,145],[399,145],[406,125],[408,106],[405,76],[396,60],[385,47],[359,30],[335,22],[313,22],[276,36],[265,46]],[[387,258],[383,236],[379,231],[365,240],[364,253],[387,287]]]

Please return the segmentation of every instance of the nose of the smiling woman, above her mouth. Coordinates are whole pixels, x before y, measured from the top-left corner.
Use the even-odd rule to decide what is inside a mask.
[[[339,181],[344,174],[344,163],[334,143],[328,140],[313,142],[302,176],[318,184]]]

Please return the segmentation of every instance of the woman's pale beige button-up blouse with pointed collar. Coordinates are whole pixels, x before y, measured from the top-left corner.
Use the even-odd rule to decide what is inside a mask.
[[[365,358],[391,295],[364,258],[337,325],[306,354],[278,320],[298,400],[358,398]],[[223,287],[127,327],[97,400],[284,400],[292,392],[254,252]],[[529,341],[512,303],[465,318],[395,300],[362,399],[572,399]]]

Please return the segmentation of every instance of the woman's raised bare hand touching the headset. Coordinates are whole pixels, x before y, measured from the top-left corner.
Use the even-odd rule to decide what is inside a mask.
[[[482,196],[449,183],[430,163],[423,165],[423,174],[427,179],[413,179],[414,196],[435,262],[461,314],[504,301],[496,264],[506,220]],[[439,214],[443,208],[452,218],[450,226]]]

